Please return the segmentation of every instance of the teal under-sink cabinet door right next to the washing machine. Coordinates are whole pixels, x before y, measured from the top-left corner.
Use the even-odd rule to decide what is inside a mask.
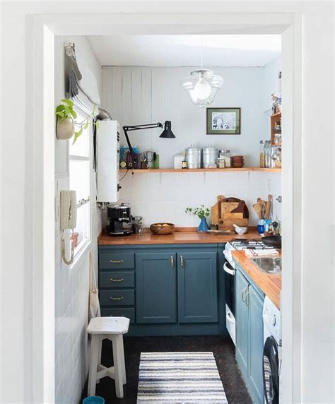
[[[252,285],[249,286],[249,383],[254,401],[264,402],[263,395],[263,303]]]

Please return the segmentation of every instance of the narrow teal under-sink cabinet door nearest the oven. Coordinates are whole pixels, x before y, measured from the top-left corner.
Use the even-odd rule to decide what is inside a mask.
[[[245,379],[248,376],[248,307],[246,294],[249,282],[240,273],[235,272],[235,317],[236,317],[236,360]]]

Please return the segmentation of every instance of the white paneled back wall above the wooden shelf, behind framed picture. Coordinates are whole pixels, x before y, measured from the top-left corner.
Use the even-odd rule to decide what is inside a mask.
[[[224,79],[212,107],[240,107],[240,135],[206,135],[206,108],[192,104],[180,81],[192,67],[104,67],[102,107],[121,125],[172,121],[175,139],[159,138],[160,129],[134,131],[131,143],[141,151],[160,155],[160,167],[173,167],[173,155],[192,143],[228,148],[233,155],[245,155],[246,165],[259,164],[259,140],[264,132],[262,67],[215,67]],[[122,135],[121,143],[126,144]]]

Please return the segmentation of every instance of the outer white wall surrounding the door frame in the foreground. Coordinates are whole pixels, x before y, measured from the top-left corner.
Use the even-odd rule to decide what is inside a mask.
[[[199,13],[203,4],[194,1],[154,1],[144,4],[122,4],[110,1],[57,1],[4,2],[1,13],[1,403],[34,402],[32,380],[41,380],[40,374],[33,369],[33,302],[36,292],[31,288],[34,263],[30,251],[33,249],[32,223],[33,183],[35,181],[31,162],[33,160],[33,133],[27,129],[28,115],[31,114],[31,99],[25,89],[31,81],[27,73],[31,59],[29,18],[33,13],[57,14],[86,12],[90,18],[94,13]],[[304,128],[302,148],[304,195],[302,206],[301,237],[302,251],[293,251],[293,256],[304,257],[302,296],[298,302],[298,317],[293,323],[295,346],[293,364],[300,362],[303,372],[294,376],[301,381],[293,384],[293,391],[301,403],[334,403],[334,212],[316,215],[315,206],[322,195],[334,206],[334,126],[329,117],[334,114],[333,74],[334,57],[329,49],[334,46],[334,9],[333,4],[319,1],[220,1],[216,3],[216,13],[302,13],[303,26],[303,103],[302,125]],[[162,18],[164,20],[170,20]],[[141,16],[141,20],[143,17]],[[186,20],[186,18],[185,18]],[[143,32],[143,31],[142,31]],[[92,32],[90,32],[92,33]],[[10,38],[10,40],[8,40]],[[27,50],[29,49],[29,50]],[[320,61],[322,61],[320,65]],[[320,66],[322,69],[320,70]],[[321,72],[321,73],[320,73]],[[301,77],[301,76],[300,76]],[[299,80],[300,77],[295,78]],[[20,95],[18,97],[18,95]],[[320,103],[319,100],[322,100]],[[13,105],[20,112],[15,127],[8,117],[13,115]],[[315,112],[317,111],[317,114]],[[322,130],[320,130],[320,122]],[[317,133],[317,136],[316,136]],[[311,164],[320,141],[324,148],[322,165]],[[299,147],[299,145],[295,145]],[[10,173],[10,175],[8,174]],[[327,182],[322,181],[327,173]],[[316,231],[321,229],[321,231]],[[291,268],[293,274],[296,268]],[[317,281],[317,283],[316,283]],[[9,304],[8,304],[9,302]],[[303,307],[300,313],[299,307]],[[9,305],[9,308],[8,308]],[[293,309],[292,309],[293,310]],[[294,313],[295,313],[294,311]],[[302,332],[300,338],[299,332]],[[52,367],[53,364],[50,364]],[[290,372],[290,369],[288,369]],[[43,386],[43,384],[42,384]],[[300,388],[301,386],[301,388]],[[48,389],[48,386],[43,386]],[[289,397],[289,391],[286,394]],[[36,402],[36,401],[35,401]],[[290,401],[286,401],[290,402]]]

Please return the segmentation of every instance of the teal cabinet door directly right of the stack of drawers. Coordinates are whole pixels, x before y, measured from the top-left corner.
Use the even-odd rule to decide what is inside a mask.
[[[176,254],[136,253],[136,322],[177,320]]]

